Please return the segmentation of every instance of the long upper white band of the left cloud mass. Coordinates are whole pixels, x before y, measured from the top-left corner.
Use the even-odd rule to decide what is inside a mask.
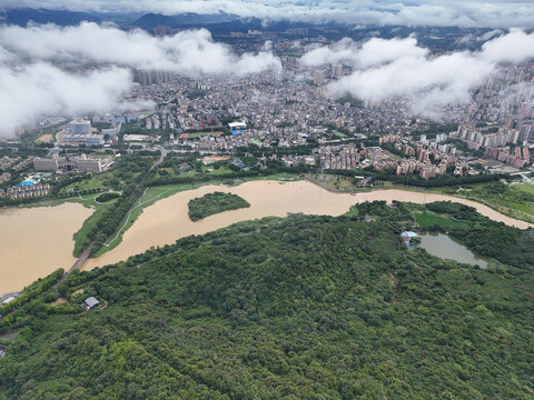
[[[38,60],[112,63],[185,74],[248,74],[281,69],[270,51],[237,56],[228,46],[214,42],[206,29],[159,38],[141,30],[122,31],[92,22],[67,28],[11,26],[0,28],[0,46]]]

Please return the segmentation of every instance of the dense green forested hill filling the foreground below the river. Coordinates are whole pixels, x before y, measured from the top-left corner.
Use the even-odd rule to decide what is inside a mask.
[[[412,218],[269,218],[73,273],[102,306],[20,306],[0,399],[532,399],[532,269],[408,251]]]

